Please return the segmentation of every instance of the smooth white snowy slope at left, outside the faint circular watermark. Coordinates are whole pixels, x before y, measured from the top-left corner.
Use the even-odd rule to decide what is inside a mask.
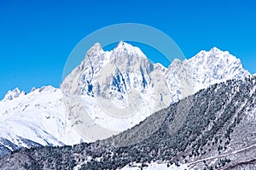
[[[9,94],[17,91],[10,91],[8,98],[0,102],[0,144],[15,150],[32,145],[80,142],[79,135],[67,123],[60,89],[48,86],[9,98],[13,96]]]

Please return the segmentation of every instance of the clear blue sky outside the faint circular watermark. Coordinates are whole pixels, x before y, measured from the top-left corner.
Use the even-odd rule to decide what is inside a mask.
[[[103,26],[134,22],[166,32],[187,58],[218,47],[256,72],[256,3],[214,1],[0,2],[0,99],[16,87],[59,87],[74,46]]]

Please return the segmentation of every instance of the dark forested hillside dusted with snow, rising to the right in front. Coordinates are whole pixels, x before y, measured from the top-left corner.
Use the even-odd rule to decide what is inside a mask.
[[[255,100],[256,77],[221,82],[154,113],[113,138],[73,147],[20,150],[3,157],[0,167],[116,169],[134,162],[147,166],[158,161],[166,163],[166,169],[167,163],[184,164],[188,169],[249,168],[256,156]],[[187,106],[185,121],[172,131],[179,123],[179,111]],[[140,134],[148,133],[152,122],[159,122],[158,130],[147,139],[137,140]],[[132,143],[132,139],[137,143],[121,146]]]

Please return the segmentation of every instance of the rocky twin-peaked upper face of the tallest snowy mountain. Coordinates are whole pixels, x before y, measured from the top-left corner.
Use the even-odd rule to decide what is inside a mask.
[[[155,75],[160,81],[165,71],[164,66],[151,64],[139,48],[128,43],[119,42],[117,48],[107,52],[96,43],[84,61],[61,83],[61,89],[65,94],[111,99],[115,105],[125,107],[129,105],[127,94],[131,91],[137,91],[142,97],[148,93],[153,96]],[[166,86],[166,81],[161,81]]]

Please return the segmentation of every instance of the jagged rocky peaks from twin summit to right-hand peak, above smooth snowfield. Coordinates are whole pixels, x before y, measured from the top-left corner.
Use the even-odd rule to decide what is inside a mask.
[[[90,48],[84,61],[62,82],[61,89],[67,94],[104,97],[107,90],[111,93],[111,99],[114,99],[113,96],[124,97],[124,94],[134,88],[145,94],[146,89],[152,86],[154,74],[165,78],[174,95],[183,94],[182,90],[179,92],[177,89],[181,88],[181,82],[188,82],[186,88],[191,87],[193,91],[190,94],[195,94],[211,84],[250,75],[242,67],[240,59],[218,48],[202,50],[191,59],[174,59],[165,68],[159,63],[151,64],[139,48],[128,43],[119,42],[117,48],[107,52],[96,43]]]

